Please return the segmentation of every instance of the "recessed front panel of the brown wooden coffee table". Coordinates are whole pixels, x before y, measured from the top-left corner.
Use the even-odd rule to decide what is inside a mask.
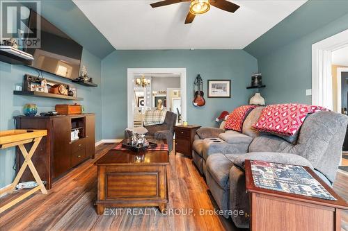
[[[106,198],[158,197],[158,172],[107,173]]]

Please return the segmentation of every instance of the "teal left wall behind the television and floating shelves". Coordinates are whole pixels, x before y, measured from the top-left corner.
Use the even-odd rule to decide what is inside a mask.
[[[9,65],[0,62],[0,130],[13,129],[13,116],[22,114],[22,107],[26,103],[35,103],[40,112],[54,110],[58,103],[81,103],[86,112],[96,114],[96,140],[102,139],[102,80],[101,58],[113,51],[113,47],[89,22],[84,14],[70,0],[41,1],[41,15],[49,22],[60,28],[74,40],[84,46],[81,64],[87,67],[88,75],[98,87],[84,87],[76,85],[77,94],[84,101],[64,101],[58,99],[45,99],[30,96],[15,96],[13,90],[16,84],[22,85],[24,74],[38,75],[35,69],[21,65]],[[88,35],[88,36],[86,36]],[[71,83],[64,78],[44,73],[45,78],[63,83]],[[15,176],[15,150],[8,148],[0,153],[0,188],[12,182]]]

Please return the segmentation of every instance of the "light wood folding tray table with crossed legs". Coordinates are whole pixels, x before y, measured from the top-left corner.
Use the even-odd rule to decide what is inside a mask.
[[[21,151],[25,159],[22,167],[19,169],[17,176],[15,177],[15,180],[13,180],[13,183],[10,185],[10,187],[3,189],[3,191],[0,191],[0,194],[3,194],[5,192],[12,193],[15,190],[15,187],[18,184],[22,174],[24,173],[26,166],[29,166],[29,169],[31,173],[33,173],[33,177],[35,178],[35,181],[38,183],[37,187],[34,187],[33,189],[27,191],[22,196],[19,196],[18,198],[15,198],[14,200],[7,203],[6,205],[3,205],[3,207],[0,207],[0,213],[5,211],[9,207],[12,207],[13,205],[19,203],[19,201],[24,200],[24,198],[27,198],[28,196],[35,193],[35,191],[38,191],[39,189],[41,190],[42,194],[47,194],[45,185],[43,185],[42,180],[40,179],[40,176],[38,174],[38,171],[36,171],[33,162],[31,162],[31,157],[35,153],[35,150],[38,147],[38,144],[40,143],[42,137],[46,135],[47,135],[47,130],[17,129],[17,130],[6,130],[6,131],[0,132],[0,149],[18,146],[19,150]],[[31,149],[28,153],[26,151],[26,148],[24,147],[24,144],[29,144],[31,142],[33,142],[33,146],[31,146]]]

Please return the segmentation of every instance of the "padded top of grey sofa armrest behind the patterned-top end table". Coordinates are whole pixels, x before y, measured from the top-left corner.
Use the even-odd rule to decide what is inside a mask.
[[[239,155],[239,157],[235,159],[235,165],[244,169],[245,160],[263,160],[267,162],[275,162],[281,164],[308,166],[310,167],[310,169],[314,169],[313,165],[305,157],[301,157],[300,155],[290,153],[246,153],[244,155]]]

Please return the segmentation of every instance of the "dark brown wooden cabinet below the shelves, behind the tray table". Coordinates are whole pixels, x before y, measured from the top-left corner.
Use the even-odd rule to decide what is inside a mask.
[[[76,114],[56,117],[16,117],[18,129],[45,129],[47,137],[40,142],[33,155],[40,178],[52,182],[70,171],[74,166],[95,155],[95,115]],[[79,139],[71,140],[71,131],[79,130]],[[31,144],[26,148],[29,150]],[[24,158],[17,150],[16,169],[20,169]],[[30,171],[26,170],[21,181],[33,180]]]

